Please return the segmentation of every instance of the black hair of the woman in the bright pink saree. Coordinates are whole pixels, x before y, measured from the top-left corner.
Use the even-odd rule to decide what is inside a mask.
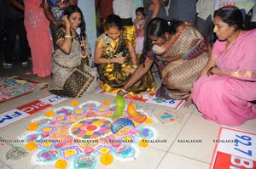
[[[245,29],[243,26],[241,10],[235,6],[218,8],[218,10],[214,13],[214,17],[215,16],[218,16],[224,23],[234,26],[235,31],[238,29]]]

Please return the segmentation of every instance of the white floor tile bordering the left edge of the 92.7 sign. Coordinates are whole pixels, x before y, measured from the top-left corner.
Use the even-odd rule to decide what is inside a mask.
[[[207,121],[199,115],[191,115],[172,144],[170,152],[210,163],[215,147],[212,139],[218,138],[218,130],[217,123]]]

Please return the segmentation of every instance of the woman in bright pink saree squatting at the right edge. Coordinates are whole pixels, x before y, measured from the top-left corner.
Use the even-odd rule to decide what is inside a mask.
[[[219,8],[214,25],[218,40],[194,83],[193,101],[206,119],[240,126],[256,119],[256,30],[241,29],[235,7]]]

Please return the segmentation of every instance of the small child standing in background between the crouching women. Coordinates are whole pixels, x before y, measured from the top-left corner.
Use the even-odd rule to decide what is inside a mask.
[[[136,19],[134,20],[134,25],[136,26],[135,51],[137,55],[143,54],[144,23],[145,23],[144,8],[139,7],[136,9]]]

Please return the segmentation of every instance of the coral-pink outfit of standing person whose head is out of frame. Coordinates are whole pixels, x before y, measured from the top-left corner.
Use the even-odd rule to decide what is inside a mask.
[[[51,56],[53,45],[42,0],[24,0],[27,40],[32,53],[33,74],[39,77],[49,76],[51,73]]]

